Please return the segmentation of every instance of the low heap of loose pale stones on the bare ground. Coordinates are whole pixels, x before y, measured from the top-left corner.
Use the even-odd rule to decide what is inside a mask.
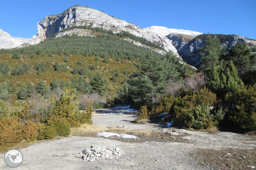
[[[83,150],[81,154],[83,154],[83,160],[92,162],[95,160],[115,159],[121,155],[121,152],[119,147],[94,147],[93,145],[91,145],[90,148],[86,148],[85,150]]]

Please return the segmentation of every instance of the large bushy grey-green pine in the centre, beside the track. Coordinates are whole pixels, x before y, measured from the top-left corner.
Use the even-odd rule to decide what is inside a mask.
[[[168,80],[177,80],[184,71],[180,60],[171,53],[160,56],[149,52],[139,62],[140,64],[135,64],[138,70],[130,75],[128,81],[130,98],[135,102],[136,108],[149,106],[163,96]]]

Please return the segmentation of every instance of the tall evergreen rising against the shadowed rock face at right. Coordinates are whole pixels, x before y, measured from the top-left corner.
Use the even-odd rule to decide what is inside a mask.
[[[202,57],[200,69],[205,70],[206,68],[219,63],[219,58],[224,54],[225,49],[221,47],[221,43],[216,36],[211,37],[208,35],[206,41],[203,42],[203,45],[203,48],[199,48],[199,54]]]

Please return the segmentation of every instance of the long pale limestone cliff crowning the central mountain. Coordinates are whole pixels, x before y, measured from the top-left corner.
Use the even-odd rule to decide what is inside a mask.
[[[62,14],[47,16],[43,21],[40,21],[37,26],[37,37],[43,41],[64,28],[80,25],[99,27],[111,30],[114,33],[126,31],[135,36],[143,37],[148,41],[154,42],[162,46],[166,51],[171,50],[176,55],[178,55],[178,53],[175,47],[173,47],[171,41],[165,37],[167,34],[177,31],[178,33],[192,35],[201,34],[193,31],[168,29],[157,26],[142,29],[124,20],[107,15],[103,11],[94,10],[89,7],[74,6],[64,11]]]

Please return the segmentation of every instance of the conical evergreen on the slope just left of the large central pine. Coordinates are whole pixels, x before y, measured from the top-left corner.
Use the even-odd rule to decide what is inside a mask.
[[[100,71],[96,71],[96,74],[91,78],[90,85],[92,89],[98,92],[100,95],[105,95],[107,87],[106,79],[102,77],[102,73]]]

